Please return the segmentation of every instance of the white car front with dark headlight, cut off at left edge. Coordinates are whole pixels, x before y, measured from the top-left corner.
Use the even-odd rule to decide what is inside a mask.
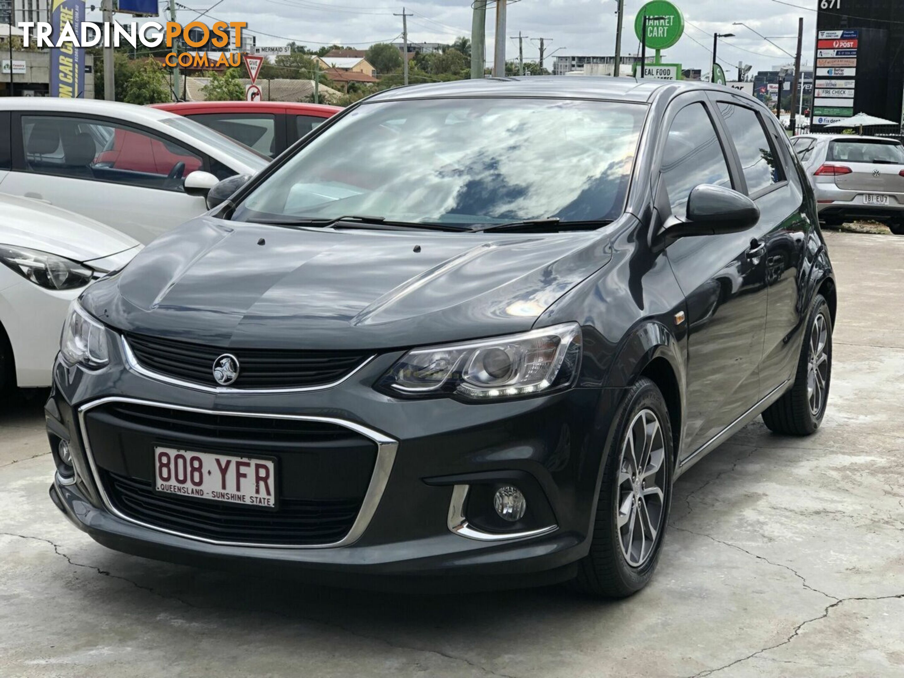
[[[0,194],[0,391],[51,385],[72,300],[141,248],[80,214]]]

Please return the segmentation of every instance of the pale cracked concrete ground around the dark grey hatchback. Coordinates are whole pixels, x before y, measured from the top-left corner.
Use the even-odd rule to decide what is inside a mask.
[[[830,232],[824,426],[759,421],[677,483],[652,584],[395,596],[108,551],[47,497],[40,400],[0,411],[0,676],[902,676],[904,238]]]

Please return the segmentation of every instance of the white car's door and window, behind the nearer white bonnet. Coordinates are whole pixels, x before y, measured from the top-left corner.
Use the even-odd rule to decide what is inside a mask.
[[[147,243],[206,210],[184,193],[205,157],[146,127],[70,113],[13,113],[0,189],[79,212]]]

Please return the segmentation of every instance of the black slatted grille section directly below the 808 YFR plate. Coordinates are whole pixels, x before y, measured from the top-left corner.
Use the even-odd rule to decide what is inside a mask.
[[[328,544],[352,529],[361,501],[279,499],[277,511],[158,494],[146,480],[103,472],[110,501],[130,518],[216,541],[274,545]]]

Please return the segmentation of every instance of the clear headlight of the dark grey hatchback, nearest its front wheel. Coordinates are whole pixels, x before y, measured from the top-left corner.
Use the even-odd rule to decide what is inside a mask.
[[[409,396],[502,400],[568,388],[580,363],[577,323],[406,353],[380,381]]]

